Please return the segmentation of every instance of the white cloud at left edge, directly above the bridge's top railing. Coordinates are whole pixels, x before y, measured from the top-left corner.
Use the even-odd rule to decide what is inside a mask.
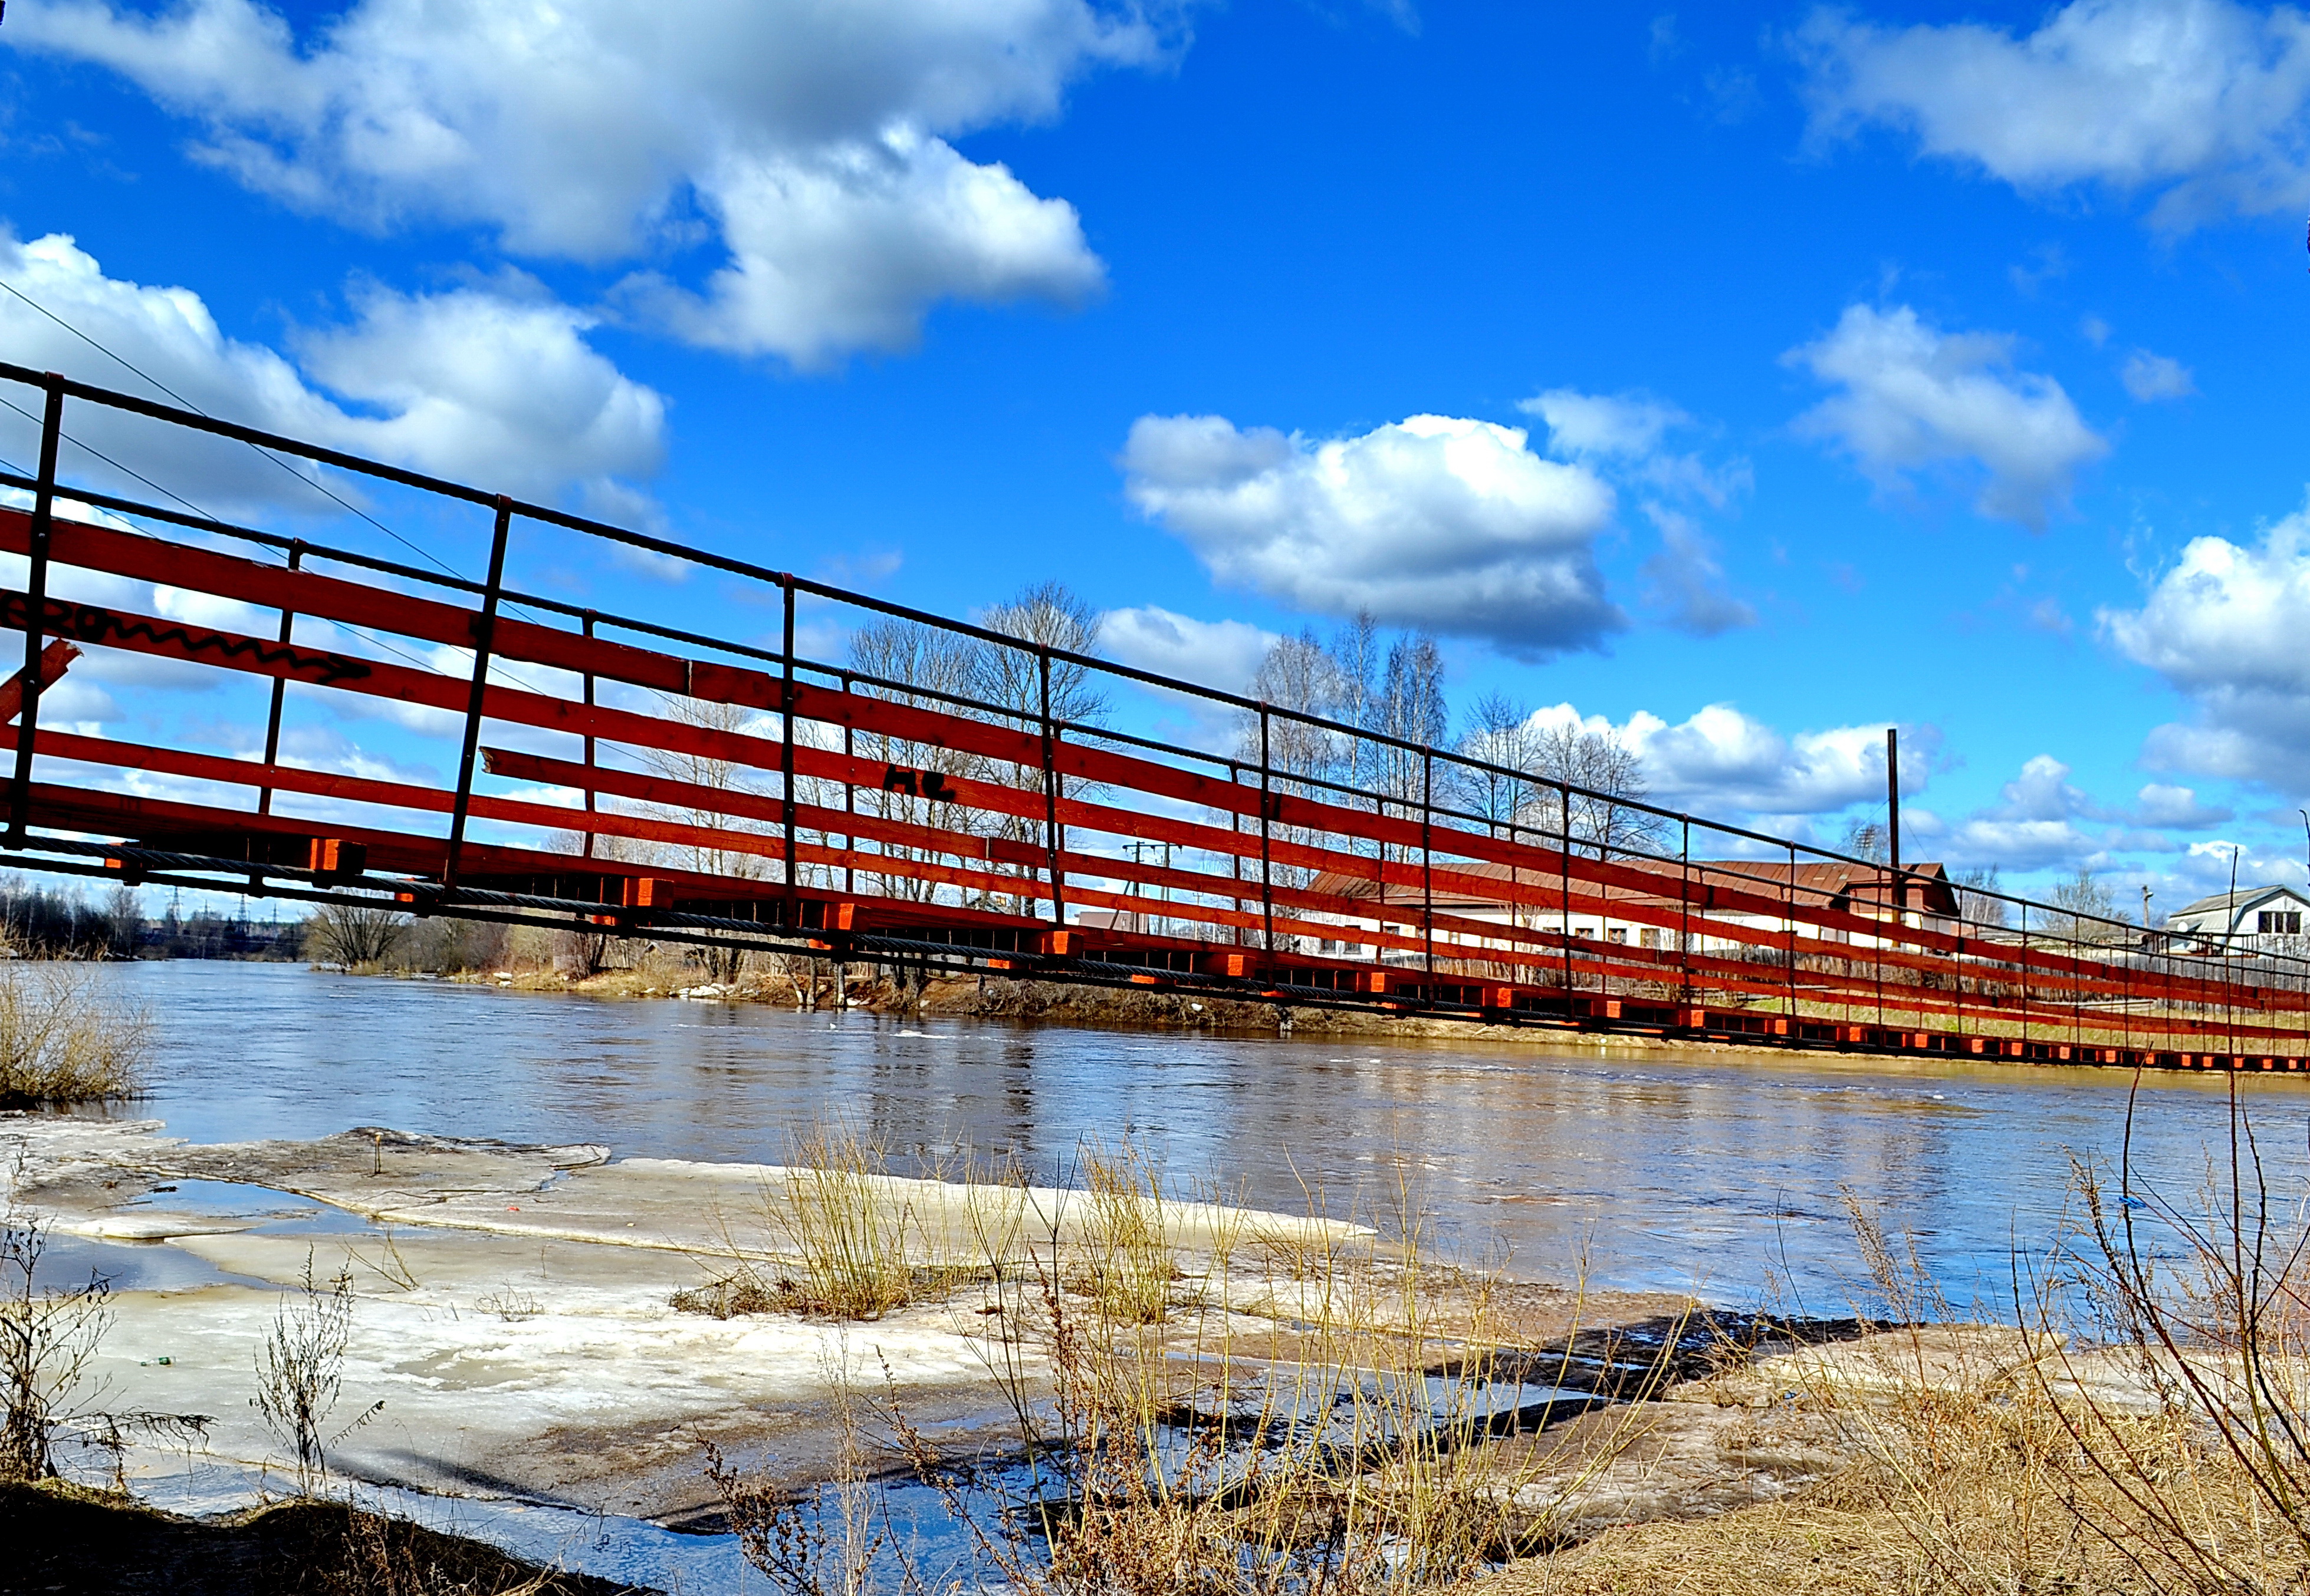
[[[192,289],[106,277],[60,233],[32,243],[0,236],[0,277],[224,420],[538,499],[564,490],[631,497],[621,478],[649,476],[663,453],[665,402],[584,342],[584,314],[520,277],[432,296],[360,286],[349,323],[293,342],[298,363],[226,337]],[[23,365],[146,390],[134,372],[111,367],[14,296],[0,298],[0,340]],[[67,432],[203,508],[335,508],[240,443],[88,404],[69,411]],[[0,453],[28,464],[35,450],[32,420],[0,411]],[[65,446],[62,469],[139,497],[152,492],[74,446]]]

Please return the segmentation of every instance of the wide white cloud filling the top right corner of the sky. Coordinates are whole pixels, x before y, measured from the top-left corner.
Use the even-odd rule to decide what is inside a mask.
[[[2158,192],[2164,226],[2310,199],[2310,18],[2292,7],[2074,0],[2026,37],[1823,9],[1795,44],[1816,136],[1880,122],[2019,189]]]

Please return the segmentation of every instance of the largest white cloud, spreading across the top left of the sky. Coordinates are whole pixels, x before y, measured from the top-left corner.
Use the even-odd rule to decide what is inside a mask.
[[[254,0],[62,0],[9,35],[120,72],[201,122],[199,159],[360,226],[617,261],[705,217],[730,254],[705,293],[642,277],[628,303],[797,365],[901,349],[940,298],[1095,291],[1074,208],[949,139],[1167,51],[1139,7],[1090,0],[356,0],[303,32]]]

